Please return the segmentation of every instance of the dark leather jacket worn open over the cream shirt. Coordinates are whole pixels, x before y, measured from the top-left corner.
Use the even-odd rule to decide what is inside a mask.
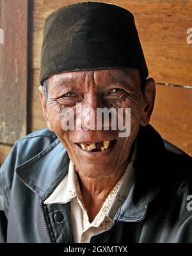
[[[134,148],[134,187],[111,228],[90,242],[191,243],[191,157],[165,149],[152,126],[140,128]],[[68,162],[67,151],[47,129],[15,144],[0,171],[1,242],[73,242],[70,203],[43,203],[67,174]]]

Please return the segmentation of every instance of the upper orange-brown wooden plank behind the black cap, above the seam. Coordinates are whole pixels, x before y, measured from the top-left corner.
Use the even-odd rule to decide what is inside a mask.
[[[100,2],[100,0],[99,0]],[[106,2],[106,1],[101,1]],[[150,76],[157,82],[192,85],[192,44],[186,31],[192,27],[192,1],[111,0],[130,10],[136,19]],[[44,20],[72,0],[35,0],[33,11],[32,68],[40,68]]]

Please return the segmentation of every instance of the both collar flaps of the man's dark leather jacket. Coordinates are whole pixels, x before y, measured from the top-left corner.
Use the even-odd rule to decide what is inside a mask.
[[[114,220],[140,221],[145,218],[148,203],[161,187],[163,154],[164,144],[159,133],[150,125],[140,128],[129,162],[135,182]],[[67,174],[68,164],[67,151],[56,139],[44,151],[17,167],[17,175],[45,200]]]

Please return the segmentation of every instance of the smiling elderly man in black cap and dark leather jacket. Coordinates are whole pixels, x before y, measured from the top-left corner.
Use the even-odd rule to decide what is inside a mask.
[[[132,14],[93,2],[56,10],[41,60],[48,129],[20,139],[1,167],[1,240],[191,243],[191,158],[148,124],[156,88]],[[113,112],[108,129],[105,118],[91,129],[99,108],[121,109],[128,133],[112,129]]]

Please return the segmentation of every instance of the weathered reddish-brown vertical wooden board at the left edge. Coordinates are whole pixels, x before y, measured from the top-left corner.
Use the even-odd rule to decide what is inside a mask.
[[[26,135],[28,0],[2,0],[4,44],[0,44],[0,142]]]

